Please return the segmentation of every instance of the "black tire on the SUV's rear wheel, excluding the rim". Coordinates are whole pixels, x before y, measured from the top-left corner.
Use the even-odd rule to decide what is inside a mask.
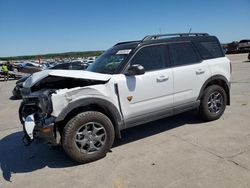
[[[218,111],[218,113],[210,112],[208,107],[209,97],[213,93],[219,93],[223,100],[221,109]],[[199,114],[201,118],[205,121],[213,121],[219,119],[226,109],[226,104],[227,104],[227,95],[225,90],[219,85],[211,85],[205,89],[203,96],[201,97]]]

